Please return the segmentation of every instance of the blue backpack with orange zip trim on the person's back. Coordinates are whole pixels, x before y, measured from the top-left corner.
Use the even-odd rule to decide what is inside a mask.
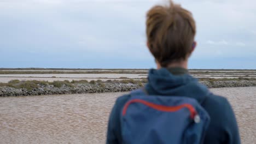
[[[203,143],[210,116],[192,98],[131,92],[121,113],[125,144]]]

